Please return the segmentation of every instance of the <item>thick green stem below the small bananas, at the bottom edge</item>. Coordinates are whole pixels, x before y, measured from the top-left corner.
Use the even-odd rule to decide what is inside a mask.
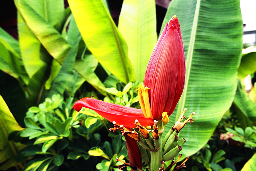
[[[150,151],[151,154],[151,161],[150,161],[150,170],[157,171],[163,165],[161,164],[163,158],[163,152],[160,147],[158,151]]]

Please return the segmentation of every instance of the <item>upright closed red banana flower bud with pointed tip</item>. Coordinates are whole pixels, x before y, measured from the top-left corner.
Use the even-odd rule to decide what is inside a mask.
[[[149,90],[151,112],[155,120],[162,113],[172,114],[185,83],[185,53],[176,16],[166,24],[148,61],[144,84]]]

